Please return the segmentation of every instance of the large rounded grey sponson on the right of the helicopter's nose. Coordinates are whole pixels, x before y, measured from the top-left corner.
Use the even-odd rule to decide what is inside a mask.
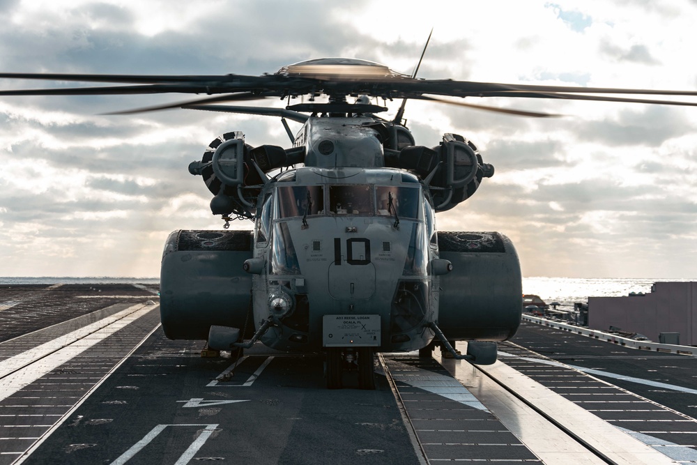
[[[503,341],[523,312],[521,267],[510,239],[498,232],[438,231],[441,276],[438,326],[447,340]]]

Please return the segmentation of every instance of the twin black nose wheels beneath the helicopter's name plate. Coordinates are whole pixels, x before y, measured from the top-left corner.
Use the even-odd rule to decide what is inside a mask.
[[[355,371],[358,371],[359,389],[375,389],[375,353],[372,347],[358,347],[358,349],[330,347],[327,349],[328,389],[343,388],[344,372]]]

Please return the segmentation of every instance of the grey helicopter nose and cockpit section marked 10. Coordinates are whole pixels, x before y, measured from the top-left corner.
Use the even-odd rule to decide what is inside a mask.
[[[438,277],[429,273],[438,244],[416,176],[300,167],[277,176],[262,197],[254,258],[266,266],[252,279],[252,296],[256,326],[275,319],[264,344],[408,351],[430,342],[424,321],[438,315]]]

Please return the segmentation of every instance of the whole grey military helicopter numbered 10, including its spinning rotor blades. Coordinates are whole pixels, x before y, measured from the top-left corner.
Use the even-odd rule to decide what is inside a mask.
[[[418,70],[418,66],[417,66]],[[290,148],[252,147],[227,132],[189,165],[213,195],[220,231],[174,231],[164,247],[162,328],[170,339],[207,340],[241,353],[260,340],[282,351],[323,351],[328,388],[346,371],[373,389],[374,354],[438,345],[477,364],[496,360],[496,341],[521,320],[519,259],[498,232],[436,231],[436,213],[471,197],[493,166],[461,135],[417,145],[403,121],[407,99],[519,97],[691,105],[618,94],[654,91],[417,79],[372,61],[315,59],[261,76],[1,73],[0,78],[128,85],[0,91],[17,95],[217,94],[116,114],[169,108],[281,118]],[[309,101],[291,100],[309,96]],[[316,97],[325,96],[325,102]],[[215,105],[288,99],[284,109]],[[393,119],[374,100],[404,99]],[[351,101],[349,101],[351,100]],[[551,114],[457,102],[495,112]],[[302,123],[293,135],[286,119]],[[228,230],[234,219],[253,231]],[[467,353],[454,341],[468,341]]]

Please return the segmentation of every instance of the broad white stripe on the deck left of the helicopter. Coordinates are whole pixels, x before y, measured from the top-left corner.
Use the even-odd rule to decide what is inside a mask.
[[[133,305],[111,317],[24,351],[0,362],[0,400],[90,349],[98,342],[144,316],[156,305]]]

